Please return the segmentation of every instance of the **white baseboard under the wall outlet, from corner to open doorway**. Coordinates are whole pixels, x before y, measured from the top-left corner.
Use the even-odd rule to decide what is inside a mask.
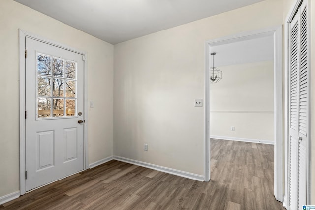
[[[180,171],[180,170],[176,170],[176,169],[172,169],[172,168],[167,168],[167,167],[163,167],[163,166],[158,166],[158,165],[154,165],[151,163],[141,162],[138,160],[132,160],[129,158],[119,157],[119,156],[114,156],[114,160],[130,163],[130,164],[137,165],[137,166],[142,166],[145,168],[154,169],[154,170],[165,172],[168,174],[174,174],[174,175],[177,175],[180,177],[185,177],[185,178],[188,178],[191,180],[204,181],[204,176],[185,172],[185,171]]]

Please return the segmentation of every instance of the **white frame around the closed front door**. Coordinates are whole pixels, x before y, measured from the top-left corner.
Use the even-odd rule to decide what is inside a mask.
[[[88,64],[87,64],[87,53],[80,52],[75,50],[71,47],[65,46],[63,44],[57,43],[55,41],[47,40],[45,38],[39,37],[37,35],[24,32],[19,29],[19,98],[20,98],[20,105],[19,105],[19,118],[20,118],[20,195],[24,195],[26,193],[26,180],[25,180],[25,171],[26,171],[26,159],[25,159],[25,39],[26,37],[35,39],[40,42],[44,42],[56,47],[63,48],[65,50],[69,50],[78,54],[81,54],[83,58],[85,58],[84,62],[84,169],[89,168],[89,161],[88,161]]]

